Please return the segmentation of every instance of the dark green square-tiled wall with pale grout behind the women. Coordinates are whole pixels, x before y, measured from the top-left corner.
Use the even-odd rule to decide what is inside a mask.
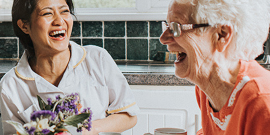
[[[115,60],[152,61],[158,51],[167,51],[161,33],[161,21],[74,22],[70,40],[103,47]],[[22,53],[12,22],[0,22],[0,59],[19,59]]]

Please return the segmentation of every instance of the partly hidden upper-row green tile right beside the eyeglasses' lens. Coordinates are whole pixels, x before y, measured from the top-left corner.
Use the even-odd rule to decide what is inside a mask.
[[[150,22],[150,37],[160,37],[162,34],[162,21],[151,21]]]

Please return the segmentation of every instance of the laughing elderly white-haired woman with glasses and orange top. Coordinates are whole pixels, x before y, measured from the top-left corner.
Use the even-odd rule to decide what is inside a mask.
[[[197,135],[270,134],[270,72],[263,52],[269,0],[173,0],[160,37],[175,74],[196,84]]]

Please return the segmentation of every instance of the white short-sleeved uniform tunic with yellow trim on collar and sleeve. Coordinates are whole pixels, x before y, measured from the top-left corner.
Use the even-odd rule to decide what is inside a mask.
[[[71,42],[71,57],[67,69],[55,87],[33,72],[24,53],[16,67],[8,71],[0,82],[2,120],[30,122],[34,110],[40,110],[39,95],[44,101],[55,96],[78,93],[82,108],[91,107],[92,120],[110,114],[138,113],[130,87],[109,53],[98,46],[79,46]],[[16,133],[3,122],[4,135]]]

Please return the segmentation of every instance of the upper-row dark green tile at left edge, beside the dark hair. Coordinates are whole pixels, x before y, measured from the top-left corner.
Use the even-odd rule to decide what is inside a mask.
[[[12,22],[0,23],[0,37],[16,37]]]

